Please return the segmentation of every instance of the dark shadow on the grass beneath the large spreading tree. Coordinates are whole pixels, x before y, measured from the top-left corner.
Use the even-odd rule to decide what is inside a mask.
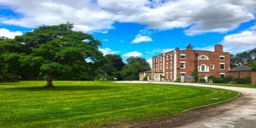
[[[109,90],[112,86],[54,86],[53,88],[45,88],[44,86],[26,86],[17,88],[3,88],[3,90],[24,90],[24,91],[94,91]]]

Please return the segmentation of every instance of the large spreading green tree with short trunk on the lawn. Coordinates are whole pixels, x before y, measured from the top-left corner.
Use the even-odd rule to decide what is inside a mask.
[[[1,42],[9,42],[1,43],[3,47],[0,45],[0,52],[4,52],[0,59],[10,62],[10,69],[6,72],[29,74],[29,70],[36,70],[37,74],[46,74],[46,87],[53,86],[54,77],[92,79],[97,68],[105,61],[98,49],[101,43],[92,35],[72,31],[72,28],[73,24],[70,23],[40,26],[24,35],[15,36],[15,40],[1,38]],[[3,63],[2,66],[6,67]]]

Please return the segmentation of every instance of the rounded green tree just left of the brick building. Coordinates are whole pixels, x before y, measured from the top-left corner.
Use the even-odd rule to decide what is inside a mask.
[[[145,58],[130,57],[126,62],[127,65],[122,70],[125,80],[138,80],[140,72],[150,70],[150,65]]]

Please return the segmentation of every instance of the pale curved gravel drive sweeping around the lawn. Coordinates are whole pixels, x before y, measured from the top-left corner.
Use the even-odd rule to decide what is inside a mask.
[[[147,81],[116,81],[116,83],[148,83]],[[234,90],[243,93],[246,97],[246,102],[239,106],[231,106],[230,110],[216,116],[209,116],[197,120],[195,122],[184,124],[182,128],[256,128],[256,88],[240,88],[231,86],[214,86],[198,83],[173,83],[173,82],[152,82],[156,84],[180,84],[189,86],[202,86],[207,88],[223,88],[226,90]],[[163,127],[168,127],[164,125]]]

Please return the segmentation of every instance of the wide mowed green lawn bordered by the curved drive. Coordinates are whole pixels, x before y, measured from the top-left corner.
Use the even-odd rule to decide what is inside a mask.
[[[0,127],[104,127],[180,115],[235,97],[214,88],[95,81],[0,83]]]

